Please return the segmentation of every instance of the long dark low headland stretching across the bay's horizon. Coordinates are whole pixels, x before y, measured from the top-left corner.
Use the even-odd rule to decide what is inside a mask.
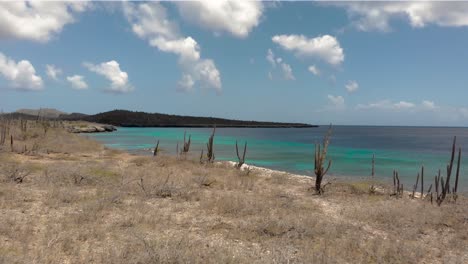
[[[215,117],[179,116],[159,113],[113,110],[95,115],[60,115],[63,120],[84,120],[122,127],[314,127],[301,123],[241,121]]]

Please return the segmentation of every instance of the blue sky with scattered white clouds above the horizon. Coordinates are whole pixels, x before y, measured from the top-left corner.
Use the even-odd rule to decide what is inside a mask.
[[[0,2],[0,108],[468,125],[468,2]]]

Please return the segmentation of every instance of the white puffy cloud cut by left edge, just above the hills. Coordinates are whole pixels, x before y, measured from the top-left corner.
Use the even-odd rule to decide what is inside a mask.
[[[15,62],[0,52],[0,74],[18,90],[37,91],[43,86],[42,78],[27,60]]]

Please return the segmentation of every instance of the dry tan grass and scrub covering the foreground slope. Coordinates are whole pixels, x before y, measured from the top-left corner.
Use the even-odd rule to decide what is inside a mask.
[[[374,181],[377,191],[335,181],[315,195],[312,178],[133,156],[60,126],[30,123],[26,135],[10,126],[0,263],[468,262],[465,197],[439,207],[395,199]]]

